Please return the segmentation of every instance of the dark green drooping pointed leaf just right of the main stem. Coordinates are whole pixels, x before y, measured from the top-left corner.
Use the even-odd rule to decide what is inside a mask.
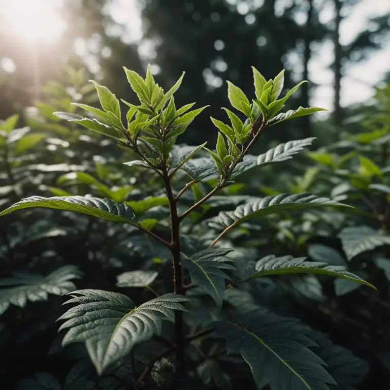
[[[191,277],[192,283],[200,286],[206,294],[210,295],[218,307],[221,307],[223,301],[223,290],[225,279],[230,277],[223,270],[233,270],[236,268],[227,264],[232,259],[226,257],[226,254],[232,252],[232,249],[205,249],[201,252],[187,257],[182,253],[181,266],[186,268]]]

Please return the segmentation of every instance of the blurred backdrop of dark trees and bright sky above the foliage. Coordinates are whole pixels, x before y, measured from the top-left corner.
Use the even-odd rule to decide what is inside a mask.
[[[389,78],[389,12],[384,0],[0,0],[0,118],[39,100],[64,64],[129,100],[122,66],[144,73],[150,62],[163,87],[186,71],[178,101],[210,104],[213,116],[225,80],[249,93],[250,66],[266,78],[285,68],[287,86],[310,81],[293,104],[329,109],[319,117],[337,127]],[[205,135],[183,141],[211,133],[207,115],[198,125]],[[278,137],[318,133],[310,125]]]

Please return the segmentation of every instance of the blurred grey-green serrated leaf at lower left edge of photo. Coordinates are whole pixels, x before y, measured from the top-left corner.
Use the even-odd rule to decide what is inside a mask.
[[[72,279],[80,279],[82,272],[75,266],[65,266],[47,276],[30,272],[15,272],[10,278],[0,279],[0,315],[12,304],[24,307],[28,301],[46,301],[48,294],[62,295],[76,289]]]

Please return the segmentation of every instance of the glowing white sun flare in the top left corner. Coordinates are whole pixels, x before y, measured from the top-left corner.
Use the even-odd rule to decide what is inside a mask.
[[[57,0],[0,0],[2,29],[23,39],[56,41],[66,23]]]

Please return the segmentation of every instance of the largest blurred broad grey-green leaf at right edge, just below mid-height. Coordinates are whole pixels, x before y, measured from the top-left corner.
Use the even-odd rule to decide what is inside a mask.
[[[358,254],[373,250],[379,246],[390,245],[390,237],[369,226],[351,226],[341,231],[338,236],[343,249],[350,260]]]

